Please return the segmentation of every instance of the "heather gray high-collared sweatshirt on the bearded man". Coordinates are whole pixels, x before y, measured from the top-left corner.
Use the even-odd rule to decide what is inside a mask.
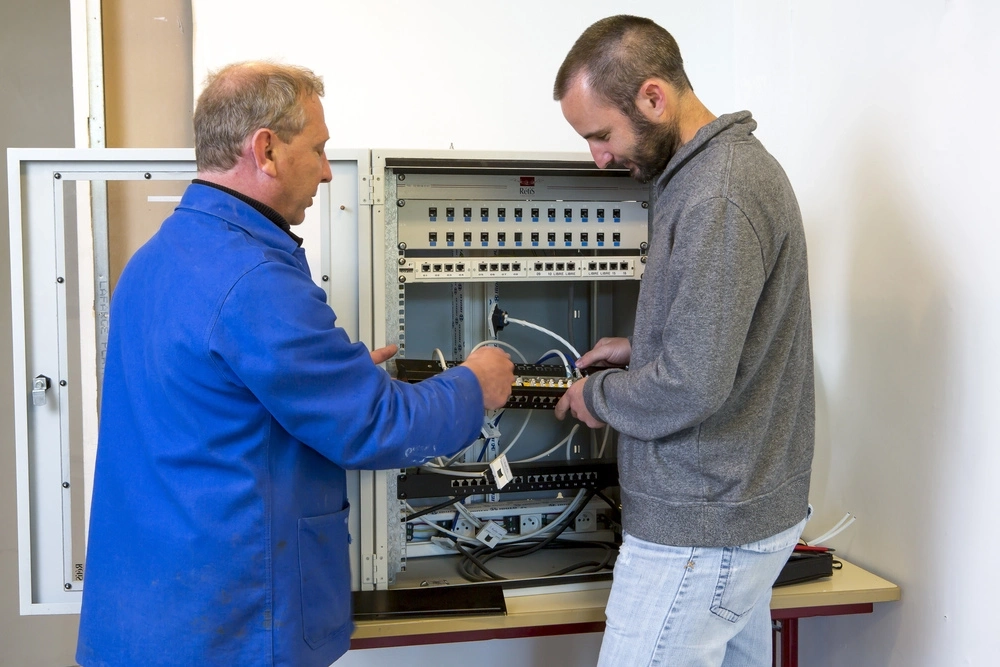
[[[750,112],[681,146],[652,187],[649,261],[627,370],[587,407],[620,434],[625,530],[736,546],[806,516],[815,398],[795,194]]]

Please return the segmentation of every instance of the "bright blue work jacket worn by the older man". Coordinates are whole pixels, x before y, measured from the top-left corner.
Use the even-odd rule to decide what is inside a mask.
[[[110,326],[77,660],[326,667],[353,628],[345,469],[470,443],[475,376],[391,379],[291,236],[199,184]]]

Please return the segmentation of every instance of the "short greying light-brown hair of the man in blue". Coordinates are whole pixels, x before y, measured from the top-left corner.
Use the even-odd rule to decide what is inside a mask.
[[[323,79],[305,67],[242,62],[213,72],[194,112],[198,171],[232,169],[261,128],[291,141],[305,127],[303,102],[313,95],[323,96]]]

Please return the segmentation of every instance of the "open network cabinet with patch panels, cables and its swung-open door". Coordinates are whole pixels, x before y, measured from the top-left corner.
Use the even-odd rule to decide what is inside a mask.
[[[194,154],[8,155],[21,613],[74,613],[86,583],[110,295],[144,240],[136,220],[152,233],[169,215],[195,176]],[[328,157],[333,180],[296,231],[338,324],[370,347],[399,345],[387,370],[404,381],[481,344],[503,346],[518,364],[511,401],[484,414],[464,452],[349,473],[352,587],[489,577],[460,551],[514,555],[546,538],[560,548],[478,559],[525,592],[608,585],[620,539],[615,434],[560,422],[552,407],[579,380],[574,350],[630,333],[647,189],[578,154]],[[506,484],[489,470],[501,454]]]

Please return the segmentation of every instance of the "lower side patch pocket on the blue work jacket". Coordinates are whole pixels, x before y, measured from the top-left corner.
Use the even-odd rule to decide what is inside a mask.
[[[333,514],[299,519],[302,633],[314,649],[338,633],[350,631],[349,512],[350,508],[345,508]]]

